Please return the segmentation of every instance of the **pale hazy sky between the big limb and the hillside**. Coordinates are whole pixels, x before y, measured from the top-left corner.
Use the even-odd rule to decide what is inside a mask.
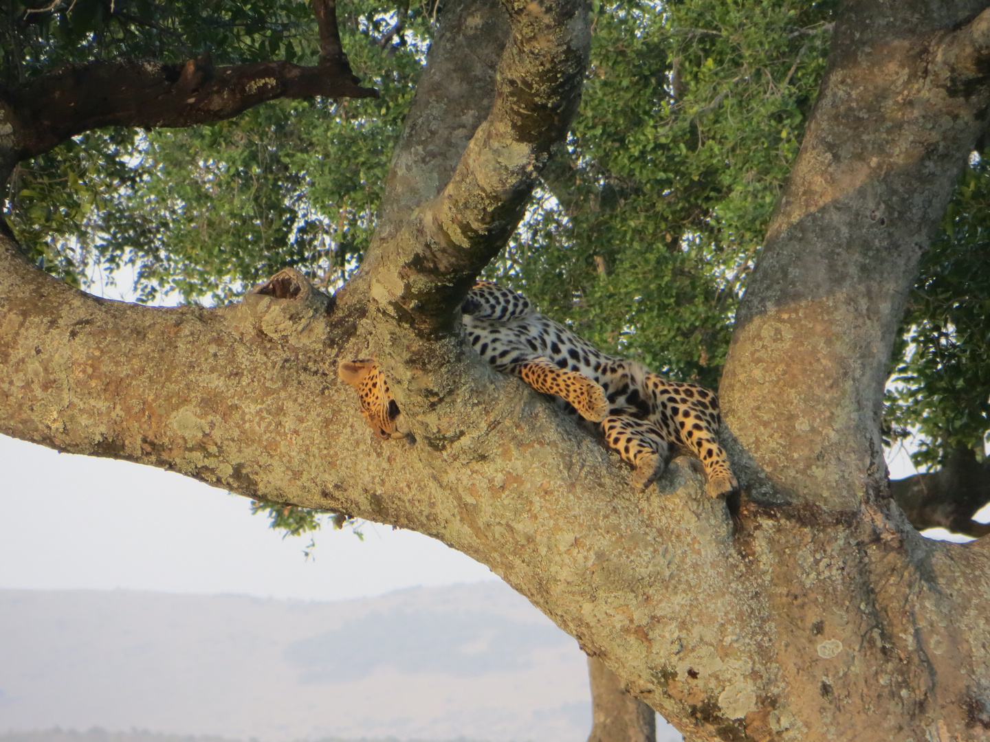
[[[249,501],[172,472],[0,435],[0,588],[235,593],[337,601],[498,579],[412,531],[281,536]]]

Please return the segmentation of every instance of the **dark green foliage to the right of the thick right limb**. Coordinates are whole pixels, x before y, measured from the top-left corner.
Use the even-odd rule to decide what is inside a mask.
[[[902,321],[888,439],[915,437],[916,466],[944,464],[955,448],[982,460],[990,431],[990,166],[974,157],[922,258]]]

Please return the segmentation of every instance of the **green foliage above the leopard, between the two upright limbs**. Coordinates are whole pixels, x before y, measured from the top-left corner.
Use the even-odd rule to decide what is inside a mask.
[[[824,71],[832,8],[602,4],[571,137],[489,277],[603,348],[717,386]]]

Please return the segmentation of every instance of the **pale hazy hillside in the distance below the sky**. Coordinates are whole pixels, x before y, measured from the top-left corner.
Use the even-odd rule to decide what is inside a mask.
[[[591,726],[576,642],[495,582],[341,603],[0,591],[0,658],[3,742],[581,742]],[[52,727],[100,729],[9,734]]]

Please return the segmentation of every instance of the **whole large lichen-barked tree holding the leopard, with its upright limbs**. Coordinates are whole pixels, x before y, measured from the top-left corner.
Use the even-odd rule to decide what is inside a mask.
[[[506,9],[501,33],[494,5],[444,9],[374,235],[333,301],[289,271],[240,306],[121,306],[7,234],[3,431],[442,538],[689,739],[980,738],[986,547],[912,528],[880,416],[919,259],[985,126],[984,8],[837,13],[723,372],[735,519],[686,459],[631,492],[593,439],[460,343],[456,307],[563,139],[587,57],[583,6]],[[4,91],[8,172],[44,128],[36,84]],[[370,440],[334,381],[369,353],[415,443]]]

